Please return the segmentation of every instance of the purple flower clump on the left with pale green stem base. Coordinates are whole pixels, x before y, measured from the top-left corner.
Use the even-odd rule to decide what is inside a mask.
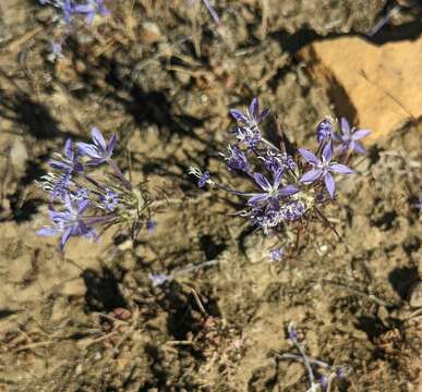
[[[95,240],[112,225],[126,229],[132,236],[143,226],[150,231],[153,212],[165,201],[153,199],[143,186],[134,187],[124,177],[112,159],[116,135],[107,142],[93,128],[92,139],[91,144],[68,139],[63,154],[49,161],[52,171],[41,177],[51,222],[37,233],[60,236],[61,252],[71,236]]]

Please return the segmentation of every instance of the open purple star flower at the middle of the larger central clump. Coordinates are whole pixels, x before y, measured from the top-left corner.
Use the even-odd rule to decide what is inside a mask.
[[[298,193],[299,188],[293,185],[286,185],[280,188],[282,172],[282,169],[280,169],[274,174],[273,184],[270,184],[269,181],[261,173],[254,173],[253,176],[256,184],[260,185],[261,189],[264,192],[253,194],[253,196],[248,200],[248,204],[253,206],[260,203],[269,201],[274,204],[274,206],[277,206],[279,198]]]

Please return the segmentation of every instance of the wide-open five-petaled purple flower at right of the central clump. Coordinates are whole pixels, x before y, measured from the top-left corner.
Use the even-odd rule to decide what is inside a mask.
[[[339,174],[353,174],[354,171],[348,168],[345,164],[331,162],[333,158],[333,145],[331,143],[327,143],[327,145],[323,149],[322,159],[315,157],[311,151],[299,148],[299,152],[303,157],[303,159],[311,163],[313,169],[304,173],[299,180],[305,184],[312,184],[315,181],[324,179],[325,187],[328,191],[329,196],[333,198],[336,192],[336,183],[330,173],[339,173]]]

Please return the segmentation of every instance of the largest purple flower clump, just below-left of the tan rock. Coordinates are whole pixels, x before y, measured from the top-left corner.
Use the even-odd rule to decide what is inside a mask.
[[[269,111],[260,109],[257,98],[245,112],[231,109],[230,114],[238,123],[232,130],[234,142],[221,157],[227,170],[248,181],[251,191],[234,189],[218,182],[208,171],[191,168],[198,187],[209,185],[240,196],[244,208],[239,213],[265,234],[277,234],[291,225],[300,228],[313,217],[328,223],[321,208],[336,198],[335,179],[354,173],[347,163],[352,152],[364,152],[360,139],[370,131],[351,128],[341,119],[340,132],[336,132],[335,122],[327,118],[316,127],[315,154],[304,148],[287,152],[284,143],[277,147],[263,137],[260,126]],[[279,255],[270,256],[279,259]]]

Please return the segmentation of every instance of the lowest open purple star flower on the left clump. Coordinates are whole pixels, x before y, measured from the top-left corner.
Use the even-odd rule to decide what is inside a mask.
[[[51,226],[46,226],[37,231],[38,235],[51,236],[61,235],[59,243],[59,249],[63,252],[64,246],[69,238],[74,236],[85,236],[87,238],[95,237],[95,231],[93,228],[88,228],[82,217],[83,212],[88,207],[88,200],[82,200],[74,206],[70,199],[69,194],[64,197],[65,211],[55,211],[49,209],[49,216],[51,219]]]

